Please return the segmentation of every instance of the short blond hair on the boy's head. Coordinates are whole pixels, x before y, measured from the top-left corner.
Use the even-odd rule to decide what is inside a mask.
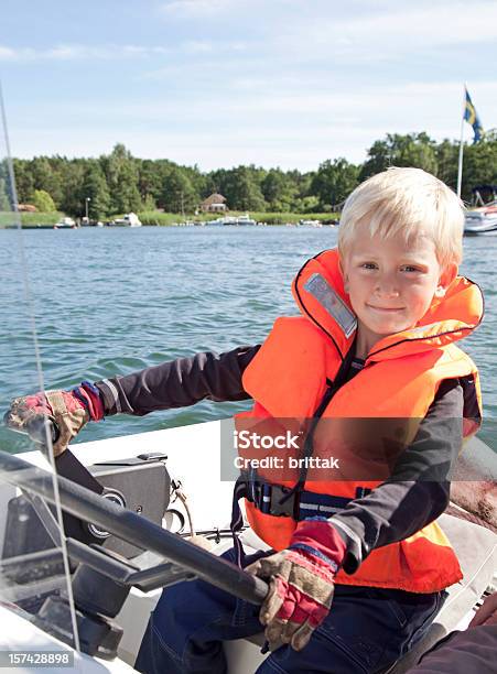
[[[433,239],[442,268],[463,258],[464,206],[442,181],[421,168],[392,166],[361,183],[342,211],[338,250],[345,256],[358,227],[370,236],[422,232]]]

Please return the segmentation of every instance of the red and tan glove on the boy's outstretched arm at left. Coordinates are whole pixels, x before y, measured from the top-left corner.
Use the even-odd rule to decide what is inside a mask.
[[[104,403],[98,389],[84,381],[72,391],[46,391],[15,398],[3,417],[12,431],[28,433],[34,442],[40,442],[40,424],[45,418],[52,421],[58,433],[53,442],[54,456],[66,448],[88,421],[104,418]],[[37,431],[37,433],[36,433]]]

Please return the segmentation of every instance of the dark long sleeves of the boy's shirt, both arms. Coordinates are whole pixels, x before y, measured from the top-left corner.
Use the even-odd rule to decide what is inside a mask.
[[[241,377],[259,348],[257,345],[220,355],[197,354],[106,379],[96,385],[106,415],[122,412],[141,416],[201,400],[249,400]],[[445,510],[450,475],[462,446],[462,385],[458,380],[446,380],[389,479],[333,515],[333,523],[347,544],[344,564],[347,573],[354,573],[371,550],[412,535]]]

